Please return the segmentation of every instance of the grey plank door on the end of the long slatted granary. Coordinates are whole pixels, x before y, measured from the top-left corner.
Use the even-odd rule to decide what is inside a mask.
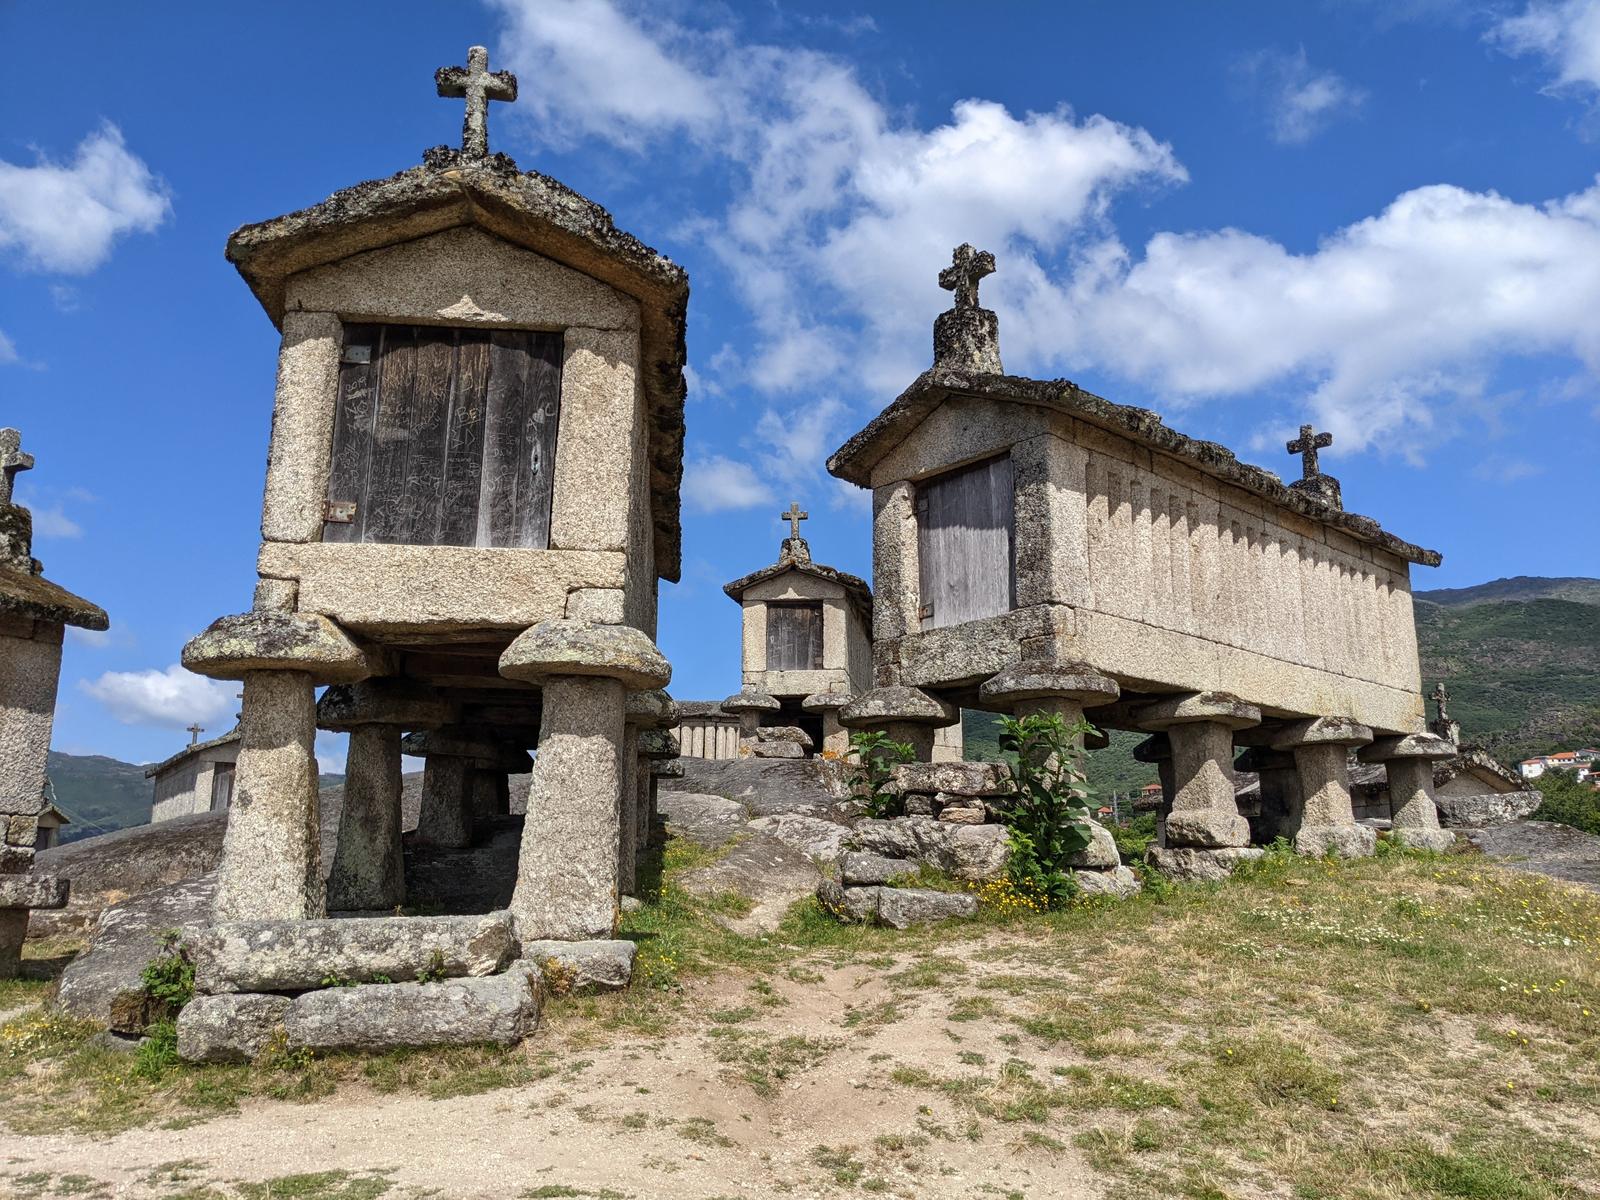
[[[922,627],[942,629],[1016,605],[1011,459],[995,458],[917,485]]]

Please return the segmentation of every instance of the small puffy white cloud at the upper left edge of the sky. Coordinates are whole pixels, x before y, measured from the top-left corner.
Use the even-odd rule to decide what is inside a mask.
[[[90,272],[117,237],[147,234],[170,211],[165,186],[128,152],[115,125],[85,138],[70,163],[0,162],[0,250],[35,270]]]

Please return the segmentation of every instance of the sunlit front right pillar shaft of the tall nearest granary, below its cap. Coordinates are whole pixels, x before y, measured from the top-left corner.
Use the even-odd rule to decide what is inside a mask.
[[[523,941],[616,931],[622,706],[614,678],[544,680],[539,757],[510,902]]]

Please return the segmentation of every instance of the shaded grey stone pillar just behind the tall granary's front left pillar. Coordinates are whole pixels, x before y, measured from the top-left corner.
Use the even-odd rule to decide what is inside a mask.
[[[403,902],[400,726],[357,725],[344,760],[344,806],[328,872],[328,907],[387,910]]]

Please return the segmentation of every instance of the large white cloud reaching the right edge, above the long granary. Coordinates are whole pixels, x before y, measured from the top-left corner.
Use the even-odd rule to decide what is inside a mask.
[[[1546,205],[1430,186],[1312,253],[1235,229],[1114,240],[1024,320],[1069,357],[1179,397],[1306,384],[1360,448],[1477,395],[1491,355],[1565,354],[1600,370],[1600,182]]]

